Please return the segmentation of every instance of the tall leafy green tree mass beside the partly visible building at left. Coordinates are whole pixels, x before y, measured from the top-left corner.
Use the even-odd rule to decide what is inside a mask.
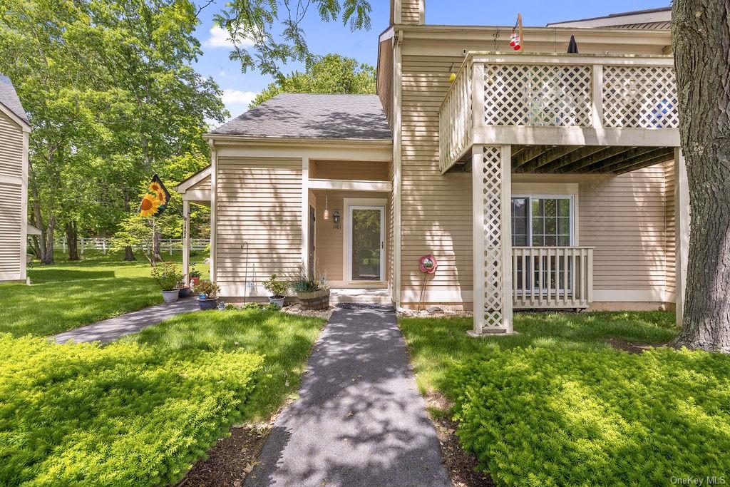
[[[31,222],[50,264],[58,229],[71,241],[80,229],[111,234],[153,172],[175,182],[207,164],[201,134],[225,110],[191,67],[201,48],[190,0],[2,4],[0,71],[34,126]]]

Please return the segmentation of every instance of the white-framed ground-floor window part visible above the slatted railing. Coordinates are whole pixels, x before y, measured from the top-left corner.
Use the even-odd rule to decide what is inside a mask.
[[[513,247],[573,245],[572,196],[513,196]]]

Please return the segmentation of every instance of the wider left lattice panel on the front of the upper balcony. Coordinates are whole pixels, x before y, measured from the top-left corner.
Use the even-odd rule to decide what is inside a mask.
[[[484,123],[591,126],[590,66],[485,64]]]

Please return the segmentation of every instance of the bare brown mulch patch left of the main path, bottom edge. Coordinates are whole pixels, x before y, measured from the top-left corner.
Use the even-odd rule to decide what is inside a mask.
[[[271,429],[267,426],[234,426],[231,436],[218,440],[208,458],[198,461],[178,487],[240,487],[257,463]]]

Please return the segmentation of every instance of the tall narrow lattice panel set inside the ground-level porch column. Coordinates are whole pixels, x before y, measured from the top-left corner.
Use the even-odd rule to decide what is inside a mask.
[[[502,326],[502,158],[499,147],[483,148],[484,326]]]

